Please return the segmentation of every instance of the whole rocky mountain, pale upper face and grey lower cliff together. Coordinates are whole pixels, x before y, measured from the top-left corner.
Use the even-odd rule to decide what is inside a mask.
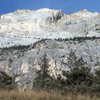
[[[59,39],[73,37],[83,39]],[[50,76],[65,78],[62,71],[69,70],[67,56],[73,50],[93,72],[100,64],[99,37],[100,14],[87,10],[69,15],[61,10],[17,10],[1,15],[0,71],[13,77],[18,87],[32,89],[45,54]]]

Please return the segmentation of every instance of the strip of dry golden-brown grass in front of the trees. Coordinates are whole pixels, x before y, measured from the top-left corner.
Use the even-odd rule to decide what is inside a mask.
[[[100,100],[99,97],[66,93],[62,95],[57,92],[45,91],[0,91],[0,100]]]

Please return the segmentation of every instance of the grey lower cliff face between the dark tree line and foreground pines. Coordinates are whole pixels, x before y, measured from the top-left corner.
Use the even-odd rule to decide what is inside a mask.
[[[0,50],[0,70],[14,77],[20,88],[32,89],[36,72],[46,54],[50,76],[64,78],[62,71],[69,70],[67,56],[73,50],[83,57],[92,72],[100,63],[100,39],[79,41],[44,40],[28,47],[3,48]]]

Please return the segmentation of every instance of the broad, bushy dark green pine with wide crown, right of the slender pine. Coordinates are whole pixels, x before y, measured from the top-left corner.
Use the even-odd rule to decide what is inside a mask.
[[[91,86],[91,69],[87,67],[87,63],[84,62],[83,58],[78,58],[72,50],[67,58],[67,66],[70,68],[69,71],[64,71],[64,75],[67,77],[67,86]]]

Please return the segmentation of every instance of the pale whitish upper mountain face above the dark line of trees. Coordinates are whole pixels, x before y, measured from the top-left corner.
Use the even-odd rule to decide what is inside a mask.
[[[0,16],[0,48],[27,45],[43,38],[100,36],[99,13],[81,10],[64,14],[61,10],[17,10]]]

